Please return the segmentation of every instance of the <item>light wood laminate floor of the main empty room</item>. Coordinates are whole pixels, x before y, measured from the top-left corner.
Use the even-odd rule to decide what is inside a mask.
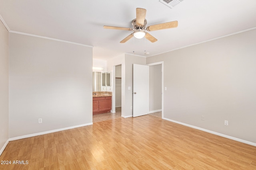
[[[10,141],[0,164],[18,169],[256,170],[256,147],[150,115]]]

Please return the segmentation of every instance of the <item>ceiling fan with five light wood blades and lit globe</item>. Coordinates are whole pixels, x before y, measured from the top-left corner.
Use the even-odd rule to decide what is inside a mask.
[[[133,36],[138,39],[146,37],[146,39],[148,39],[149,41],[154,43],[157,41],[157,39],[144,30],[155,31],[155,30],[159,30],[159,29],[174,28],[174,27],[178,26],[178,21],[171,21],[171,22],[160,23],[160,24],[156,24],[156,25],[150,25],[150,26],[146,27],[147,20],[145,19],[145,17],[146,17],[146,10],[143,8],[136,8],[136,18],[134,20],[132,20],[133,28],[113,27],[113,26],[106,26],[106,25],[104,25],[103,28],[134,31],[133,33],[128,35],[125,39],[120,41],[120,43],[125,43]]]

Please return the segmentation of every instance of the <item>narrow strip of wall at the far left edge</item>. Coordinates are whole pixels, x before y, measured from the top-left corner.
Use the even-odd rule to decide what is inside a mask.
[[[9,139],[9,32],[0,21],[0,155]]]

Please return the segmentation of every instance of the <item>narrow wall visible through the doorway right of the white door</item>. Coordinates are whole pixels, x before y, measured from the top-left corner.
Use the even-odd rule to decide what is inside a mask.
[[[162,64],[149,66],[149,112],[162,109]]]

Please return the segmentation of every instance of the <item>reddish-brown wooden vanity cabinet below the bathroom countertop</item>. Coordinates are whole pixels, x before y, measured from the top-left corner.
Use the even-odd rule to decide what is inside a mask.
[[[112,97],[95,97],[92,100],[93,115],[99,113],[108,113],[112,109]]]

